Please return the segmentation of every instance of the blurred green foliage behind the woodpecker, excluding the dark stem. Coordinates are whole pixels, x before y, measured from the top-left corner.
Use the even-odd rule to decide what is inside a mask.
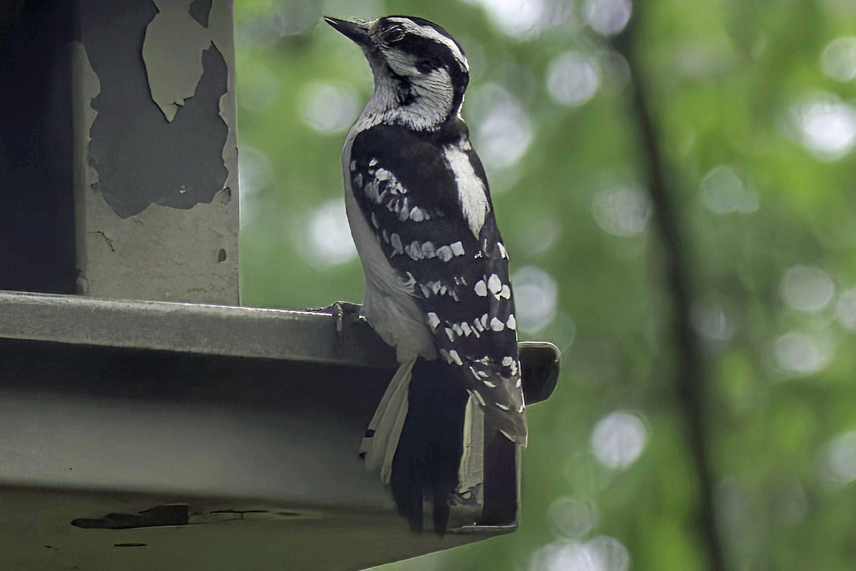
[[[662,245],[644,192],[633,191],[646,179],[627,63],[586,23],[591,2],[538,3],[546,26],[523,38],[495,25],[490,4],[236,2],[242,303],[306,308],[362,296],[356,259],[312,265],[306,256],[307,221],[342,197],[347,132],[313,128],[309,100],[332,85],[356,97],[359,112],[372,91],[363,56],[320,24],[322,9],[441,23],[473,66],[471,129],[478,135],[496,92],[531,128],[526,153],[489,177],[514,268],[556,283],[555,315],[523,337],[554,341],[564,361],[554,397],[530,409],[520,531],[394,567],[627,568],[615,543],[603,548],[609,537],[626,547],[630,568],[704,569]],[[830,77],[822,62],[835,38],[856,35],[856,3],[659,0],[633,9],[645,15],[632,46],[643,68],[634,71],[648,87],[691,247],[684,263],[710,368],[708,439],[730,568],[852,571],[856,79]],[[599,77],[575,106],[548,89],[551,62],[567,52]],[[489,143],[476,137],[477,150]],[[616,410],[636,415],[646,435],[639,457],[617,469],[598,462],[592,444],[597,422]],[[597,514],[582,536],[557,523],[562,504],[550,510],[568,497]],[[580,549],[596,554],[587,567],[574,562]]]

